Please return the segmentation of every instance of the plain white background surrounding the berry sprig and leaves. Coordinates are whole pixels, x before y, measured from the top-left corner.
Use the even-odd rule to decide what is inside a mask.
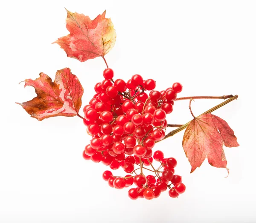
[[[106,60],[116,78],[133,74],[157,80],[157,89],[183,84],[179,97],[238,94],[214,114],[227,120],[241,146],[225,148],[230,168],[207,160],[192,174],[183,132],[157,144],[176,157],[186,192],[130,200],[127,189],[110,188],[108,167],[83,160],[90,137],[79,117],[39,122],[15,102],[35,97],[20,81],[43,71],[52,79],[69,67],[84,87],[83,106],[102,81],[102,58],[80,63],[57,44],[68,34],[66,7],[96,17],[107,9],[116,45]],[[0,222],[256,222],[255,212],[255,1],[5,1],[0,5],[1,146]],[[195,100],[199,115],[222,100]],[[82,111],[80,112],[82,114]],[[191,120],[188,101],[175,103],[169,123]]]

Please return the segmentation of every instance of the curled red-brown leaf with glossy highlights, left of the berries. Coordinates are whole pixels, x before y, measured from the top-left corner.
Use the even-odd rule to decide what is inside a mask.
[[[84,89],[76,75],[72,74],[69,68],[58,70],[54,82],[47,74],[39,75],[35,80],[24,80],[24,88],[34,87],[37,97],[17,104],[23,106],[31,117],[39,121],[54,116],[77,115]]]

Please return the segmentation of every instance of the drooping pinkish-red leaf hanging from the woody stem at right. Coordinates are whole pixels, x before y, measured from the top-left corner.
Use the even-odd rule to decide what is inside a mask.
[[[191,173],[201,166],[206,157],[210,165],[227,168],[223,145],[239,146],[234,131],[226,121],[214,114],[203,114],[194,118],[189,123],[182,142],[192,166]]]

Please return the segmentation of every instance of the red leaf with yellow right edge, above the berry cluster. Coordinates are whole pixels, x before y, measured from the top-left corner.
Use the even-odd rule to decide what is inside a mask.
[[[67,30],[70,34],[58,38],[58,43],[67,53],[81,62],[95,57],[104,57],[115,45],[116,31],[111,19],[105,18],[106,11],[94,20],[67,10]]]

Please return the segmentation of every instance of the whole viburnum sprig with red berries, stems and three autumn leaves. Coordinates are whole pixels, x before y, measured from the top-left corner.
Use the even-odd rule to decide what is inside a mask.
[[[66,21],[70,34],[54,43],[58,43],[68,57],[81,62],[102,57],[107,66],[103,71],[104,79],[94,86],[96,94],[84,106],[84,116],[79,114],[83,88],[69,68],[58,70],[53,82],[44,73],[40,73],[36,80],[24,80],[25,87],[35,88],[37,97],[18,104],[31,117],[39,121],[55,116],[80,117],[92,137],[84,148],[84,159],[109,166],[112,170],[106,170],[103,179],[116,189],[131,187],[128,196],[132,200],[151,200],[167,189],[173,198],[185,192],[182,177],[175,174],[177,160],[164,157],[161,150],[154,149],[156,143],[183,129],[186,131],[182,145],[192,166],[191,172],[200,167],[206,157],[212,166],[227,169],[223,145],[236,147],[239,144],[227,122],[211,113],[237,99],[237,95],[177,98],[183,90],[180,83],[157,91],[156,81],[144,80],[140,74],[134,74],[127,81],[114,80],[114,72],[108,67],[105,54],[113,48],[116,32],[111,19],[105,18],[105,11],[90,20],[84,14],[67,10]],[[227,100],[195,117],[191,101],[203,98]],[[183,125],[166,120],[177,100],[189,100],[193,120]],[[177,129],[166,134],[168,127]],[[119,168],[123,169],[123,176],[113,174]]]

